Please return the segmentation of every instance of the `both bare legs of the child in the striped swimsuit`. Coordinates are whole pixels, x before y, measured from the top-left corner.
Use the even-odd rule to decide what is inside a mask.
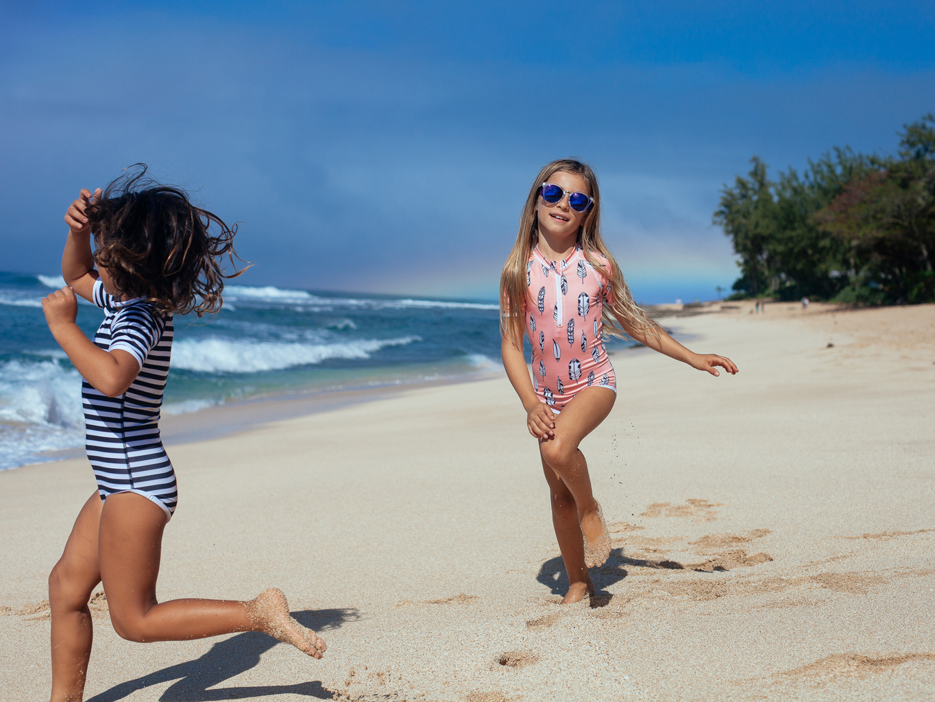
[[[85,503],[49,576],[52,702],[80,702],[91,656],[88,599],[103,580],[110,621],[122,638],[169,641],[262,631],[315,658],[324,641],[289,616],[280,590],[249,602],[180,599],[156,602],[165,512],[145,497],[97,493]]]

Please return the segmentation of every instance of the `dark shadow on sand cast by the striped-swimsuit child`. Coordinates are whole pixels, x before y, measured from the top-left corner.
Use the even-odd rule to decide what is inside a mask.
[[[361,618],[357,609],[307,609],[293,612],[293,616],[299,623],[316,632],[337,629],[345,622],[356,622]],[[157,670],[135,681],[122,682],[100,695],[94,695],[87,702],[113,702],[165,681],[177,681],[159,697],[165,702],[251,699],[286,693],[332,699],[334,695],[322,687],[320,681],[298,682],[292,685],[253,685],[208,689],[250,670],[260,662],[260,656],[263,653],[278,643],[279,641],[275,638],[267,637],[266,634],[259,632],[237,634],[235,637],[226,638],[214,644],[209,652],[194,661]],[[296,655],[303,654],[296,653]],[[312,664],[315,662],[310,658],[309,661]],[[314,670],[314,668],[311,667],[309,670]]]

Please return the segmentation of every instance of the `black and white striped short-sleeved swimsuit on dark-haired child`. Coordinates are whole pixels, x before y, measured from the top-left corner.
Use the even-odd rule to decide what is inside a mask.
[[[126,351],[139,363],[139,375],[119,397],[108,397],[85,380],[85,449],[101,499],[136,493],[165,510],[171,519],[178,502],[175,471],[159,436],[159,410],[172,353],[172,317],[162,318],[144,298],[118,301],[94,283],[94,305],[104,309],[94,344]]]

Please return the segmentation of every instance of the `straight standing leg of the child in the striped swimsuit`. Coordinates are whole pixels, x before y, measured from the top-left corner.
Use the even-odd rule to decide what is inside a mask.
[[[95,491],[79,512],[65,552],[49,576],[52,616],[52,702],[80,702],[91,658],[94,627],[88,600],[101,581],[97,524],[101,498]]]

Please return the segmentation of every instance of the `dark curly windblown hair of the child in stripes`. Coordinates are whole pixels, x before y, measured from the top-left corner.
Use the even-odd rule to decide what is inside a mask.
[[[234,251],[237,224],[227,226],[195,207],[188,193],[151,179],[145,164],[129,168],[135,170],[111,182],[86,210],[95,263],[107,269],[118,293],[145,297],[161,314],[217,312],[224,279],[246,270],[235,265],[243,262]],[[232,273],[224,272],[224,257]]]

